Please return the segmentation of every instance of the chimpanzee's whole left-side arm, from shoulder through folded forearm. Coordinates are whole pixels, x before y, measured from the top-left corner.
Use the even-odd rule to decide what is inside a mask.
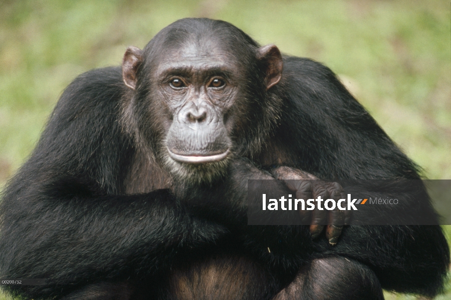
[[[118,123],[122,89],[120,68],[71,83],[2,194],[0,274],[48,278],[22,287],[33,296],[151,274],[177,246],[226,232],[190,216],[168,190],[123,193],[134,148]]]

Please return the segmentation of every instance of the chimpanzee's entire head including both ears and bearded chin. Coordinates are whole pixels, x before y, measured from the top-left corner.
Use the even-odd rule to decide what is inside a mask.
[[[275,45],[224,21],[181,19],[122,64],[126,128],[176,176],[210,181],[233,155],[252,157],[271,134],[282,75]]]

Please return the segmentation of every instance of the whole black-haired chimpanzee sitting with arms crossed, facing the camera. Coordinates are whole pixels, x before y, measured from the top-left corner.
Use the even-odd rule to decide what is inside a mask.
[[[8,286],[34,299],[440,290],[450,257],[438,225],[346,225],[336,211],[326,230],[247,225],[247,179],[289,191],[283,179],[316,177],[419,175],[329,68],[259,46],[224,21],[181,19],[143,50],[129,47],[122,67],[88,71],[65,89],[2,194],[0,274],[45,278]],[[434,214],[416,193],[406,198]]]

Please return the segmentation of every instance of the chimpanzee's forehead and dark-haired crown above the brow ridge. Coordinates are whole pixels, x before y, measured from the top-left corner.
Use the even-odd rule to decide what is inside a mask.
[[[178,20],[162,29],[149,46],[153,70],[209,66],[241,69],[255,58],[258,47],[232,24],[211,19]]]

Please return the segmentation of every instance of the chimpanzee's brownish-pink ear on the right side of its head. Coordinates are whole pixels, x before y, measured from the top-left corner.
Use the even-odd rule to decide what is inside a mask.
[[[266,45],[258,49],[257,57],[266,62],[266,89],[269,89],[282,77],[282,55],[276,45]]]

